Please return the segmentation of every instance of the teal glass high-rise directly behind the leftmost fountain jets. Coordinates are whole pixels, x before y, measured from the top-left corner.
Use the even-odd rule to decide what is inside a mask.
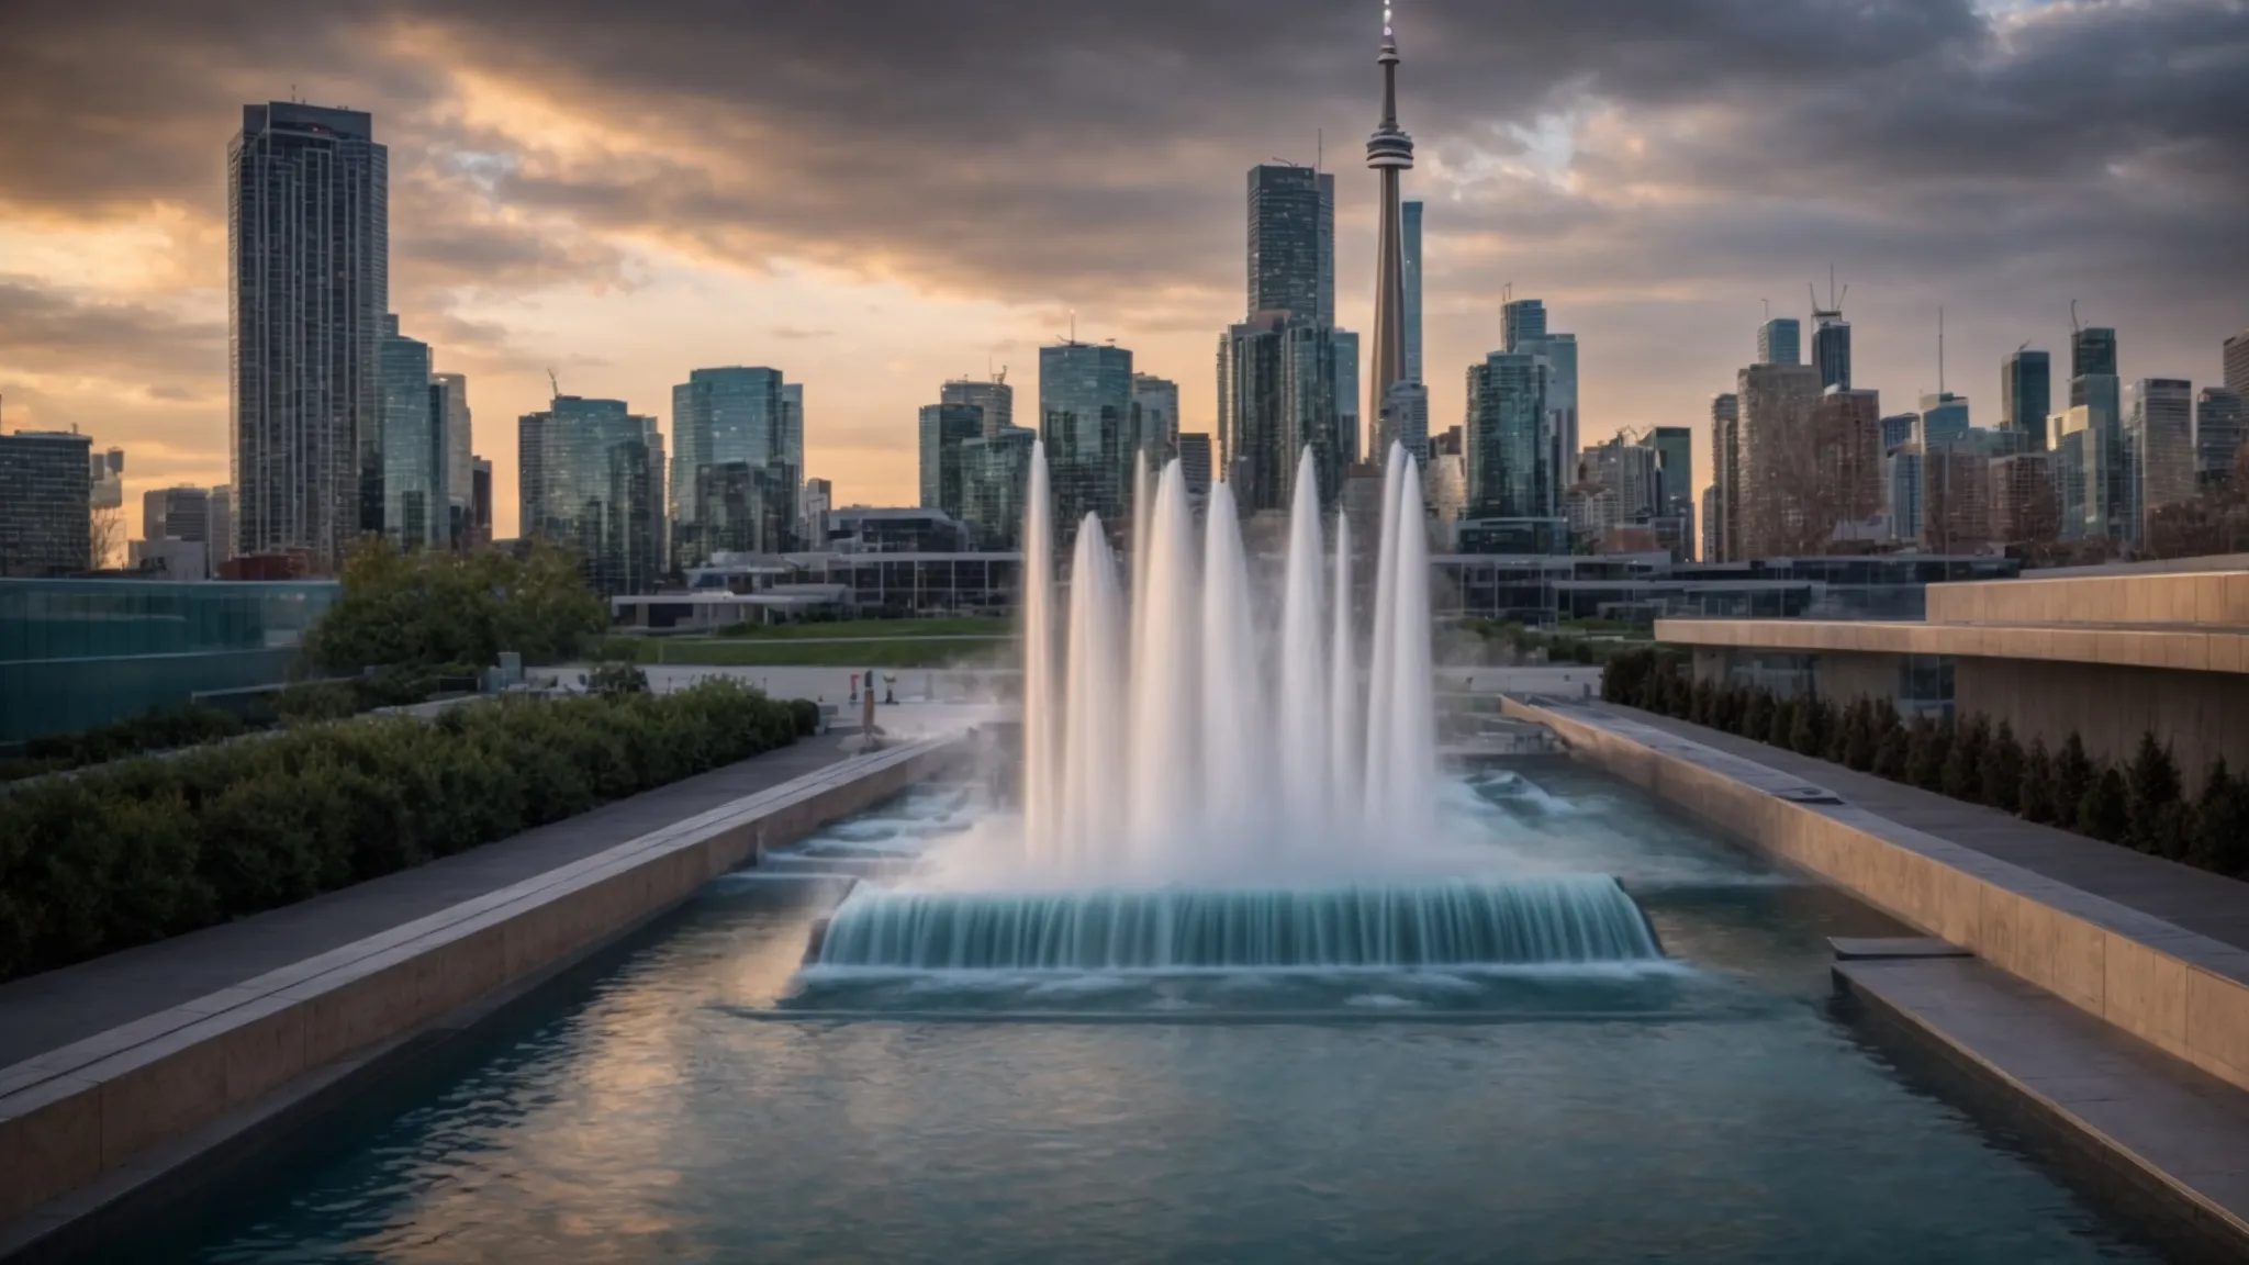
[[[1131,351],[1091,342],[1039,349],[1039,439],[1064,542],[1086,513],[1122,524],[1131,497]]]

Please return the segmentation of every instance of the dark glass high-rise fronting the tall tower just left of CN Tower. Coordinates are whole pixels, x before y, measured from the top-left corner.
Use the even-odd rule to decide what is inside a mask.
[[[1289,509],[1307,448],[1320,504],[1334,506],[1345,470],[1334,329],[1257,313],[1219,340],[1219,468],[1239,509]]]

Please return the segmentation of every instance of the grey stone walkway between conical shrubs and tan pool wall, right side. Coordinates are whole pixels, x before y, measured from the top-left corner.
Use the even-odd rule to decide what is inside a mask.
[[[1581,707],[1761,763],[1774,772],[1833,790],[1842,799],[1900,826],[1925,831],[1963,849],[2020,864],[2042,878],[2067,882],[2078,891],[2105,896],[2175,927],[2249,950],[2249,882],[2134,853],[2116,844],[2103,844],[2101,840],[2087,840],[2069,831],[2033,826],[1997,808],[1961,804],[1945,795],[1900,786],[1844,765],[1815,761],[1702,725],[1689,725],[1687,720],[1655,716],[1653,711],[1606,702]]]

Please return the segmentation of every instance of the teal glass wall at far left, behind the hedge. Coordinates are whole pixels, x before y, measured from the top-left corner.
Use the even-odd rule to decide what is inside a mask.
[[[0,581],[0,743],[288,680],[342,585]]]

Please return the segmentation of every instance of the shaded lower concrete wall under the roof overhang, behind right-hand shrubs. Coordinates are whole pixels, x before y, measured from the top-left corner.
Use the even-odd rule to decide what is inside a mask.
[[[2170,743],[2188,792],[2218,756],[2249,768],[2249,678],[2038,660],[1957,660],[1957,716],[2006,720],[2024,747],[2060,747],[2071,732],[2094,759],[2128,761],[2141,734]]]

